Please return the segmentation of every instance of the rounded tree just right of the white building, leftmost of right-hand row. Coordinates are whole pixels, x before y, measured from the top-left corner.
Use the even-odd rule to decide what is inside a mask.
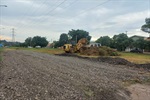
[[[110,47],[112,39],[109,36],[102,36],[96,40],[97,43],[101,43],[102,46]]]

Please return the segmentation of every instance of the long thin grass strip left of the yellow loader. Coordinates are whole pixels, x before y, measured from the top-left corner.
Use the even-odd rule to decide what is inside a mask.
[[[61,54],[64,53],[62,49],[55,49],[55,48],[23,48],[23,47],[11,47],[7,48],[7,50],[29,50],[47,54]]]

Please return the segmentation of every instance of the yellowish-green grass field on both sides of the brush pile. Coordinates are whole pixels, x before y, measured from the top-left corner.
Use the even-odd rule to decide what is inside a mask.
[[[62,49],[53,49],[53,48],[18,48],[18,47],[11,47],[7,48],[6,50],[31,50],[35,52],[42,52],[47,54],[61,54],[64,53]],[[126,52],[119,52],[121,54],[121,58],[124,58],[130,62],[136,63],[136,64],[144,64],[144,63],[150,63],[150,54],[140,54],[140,53],[126,53]],[[81,56],[81,55],[79,55]],[[95,56],[94,56],[95,57]],[[118,57],[118,56],[117,56]]]

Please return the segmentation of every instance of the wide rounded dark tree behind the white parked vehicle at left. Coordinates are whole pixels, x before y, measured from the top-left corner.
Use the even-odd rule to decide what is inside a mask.
[[[40,37],[40,36],[35,36],[32,38],[31,41],[31,46],[35,47],[35,46],[41,46],[41,47],[45,47],[47,46],[48,41],[46,40],[45,37]]]

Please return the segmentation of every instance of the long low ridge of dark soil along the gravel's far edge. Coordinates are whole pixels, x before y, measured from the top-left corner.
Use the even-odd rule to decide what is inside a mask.
[[[81,59],[87,59],[87,60],[92,60],[92,61],[99,61],[99,62],[105,62],[109,64],[114,64],[114,65],[126,65],[129,67],[136,67],[136,68],[142,68],[150,71],[150,63],[147,64],[135,64],[127,61],[126,59],[123,58],[112,58],[112,57],[98,57],[98,58],[89,58],[89,57],[81,57],[76,54],[71,54],[71,53],[63,53],[63,54],[56,54],[58,56],[69,56],[69,57],[78,57]]]

